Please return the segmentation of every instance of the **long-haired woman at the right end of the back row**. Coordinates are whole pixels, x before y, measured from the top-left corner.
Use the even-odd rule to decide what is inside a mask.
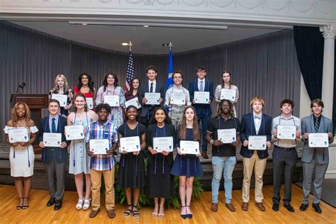
[[[233,111],[235,113],[235,117],[237,117],[237,111],[235,110],[235,104],[238,102],[239,92],[238,92],[238,87],[232,83],[230,72],[224,71],[222,73],[222,84],[218,85],[215,88],[215,102],[216,103],[220,103],[220,101],[222,100],[220,97],[222,89],[230,89],[232,91],[235,91],[235,98],[234,99],[231,98],[229,100],[231,101],[231,103],[233,103]]]

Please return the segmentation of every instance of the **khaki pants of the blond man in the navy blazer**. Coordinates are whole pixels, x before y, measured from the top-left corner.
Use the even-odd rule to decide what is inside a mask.
[[[262,175],[266,167],[267,159],[259,159],[257,151],[254,151],[251,158],[243,158],[244,164],[244,179],[242,180],[242,202],[248,203],[250,201],[250,182],[254,168],[254,197],[255,202],[261,203],[264,196],[262,195]]]

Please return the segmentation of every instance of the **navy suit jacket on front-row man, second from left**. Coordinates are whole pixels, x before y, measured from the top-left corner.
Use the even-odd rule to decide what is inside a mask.
[[[49,116],[42,118],[39,125],[38,132],[38,141],[43,141],[43,133],[50,133],[49,127]],[[62,134],[62,142],[66,142],[67,145],[70,144],[71,141],[65,140],[65,125],[67,125],[67,118],[59,116],[58,117],[58,125],[57,125],[57,133]],[[69,154],[67,152],[67,147],[44,147],[42,152],[42,161],[45,163],[50,163],[52,159],[55,159],[57,163],[62,163],[67,161],[69,158]]]

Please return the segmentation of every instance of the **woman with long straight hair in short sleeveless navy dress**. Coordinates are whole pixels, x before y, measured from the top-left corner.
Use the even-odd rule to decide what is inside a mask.
[[[192,106],[187,106],[184,109],[181,125],[177,130],[177,157],[172,167],[174,176],[179,176],[179,197],[181,198],[181,217],[192,218],[191,213],[191,195],[193,193],[194,177],[203,176],[203,170],[198,155],[183,154],[179,148],[180,140],[200,141],[201,134],[199,133],[196,111]]]

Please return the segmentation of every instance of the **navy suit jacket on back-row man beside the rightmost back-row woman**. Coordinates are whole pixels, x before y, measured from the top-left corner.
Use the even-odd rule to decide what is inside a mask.
[[[210,100],[213,100],[213,82],[209,79],[204,79],[204,91],[208,91],[210,93]],[[198,90],[198,79],[194,79],[189,82],[189,93],[191,103],[194,100],[194,93]],[[211,116],[211,105],[206,103],[193,103],[197,116]]]

